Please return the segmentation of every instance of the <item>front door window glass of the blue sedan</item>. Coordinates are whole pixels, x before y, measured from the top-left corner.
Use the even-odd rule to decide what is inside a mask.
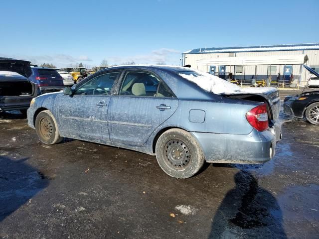
[[[74,95],[105,95],[111,94],[111,90],[120,72],[111,72],[94,77],[75,90]]]

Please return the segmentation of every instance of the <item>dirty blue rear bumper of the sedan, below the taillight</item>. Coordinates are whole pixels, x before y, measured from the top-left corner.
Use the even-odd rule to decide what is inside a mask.
[[[247,135],[191,132],[201,145],[206,162],[260,164],[275,155],[281,124]]]

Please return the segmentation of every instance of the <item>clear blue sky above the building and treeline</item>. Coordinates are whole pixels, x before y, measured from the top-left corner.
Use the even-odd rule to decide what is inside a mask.
[[[179,64],[203,47],[319,42],[318,0],[0,0],[0,56]]]

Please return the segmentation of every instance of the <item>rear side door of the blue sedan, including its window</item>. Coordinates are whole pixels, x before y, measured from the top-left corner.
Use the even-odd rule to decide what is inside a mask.
[[[177,109],[178,100],[154,73],[126,71],[119,94],[112,96],[108,123],[113,142],[143,145]]]

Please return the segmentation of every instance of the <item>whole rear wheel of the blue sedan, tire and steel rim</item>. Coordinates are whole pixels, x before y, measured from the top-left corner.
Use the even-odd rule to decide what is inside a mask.
[[[161,169],[174,178],[189,178],[205,162],[203,151],[187,131],[172,128],[162,133],[156,143],[156,158]]]

